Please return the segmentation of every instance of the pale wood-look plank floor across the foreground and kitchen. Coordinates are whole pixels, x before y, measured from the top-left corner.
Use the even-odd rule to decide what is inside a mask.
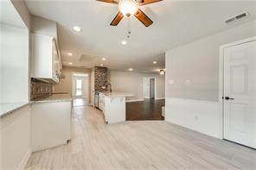
[[[33,153],[27,169],[256,169],[256,151],[164,121],[105,124],[76,107],[71,142]]]

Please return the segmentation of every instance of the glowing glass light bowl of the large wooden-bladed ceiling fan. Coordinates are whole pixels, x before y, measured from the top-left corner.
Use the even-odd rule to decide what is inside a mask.
[[[130,18],[138,11],[138,3],[135,0],[120,0],[118,9],[125,17]]]

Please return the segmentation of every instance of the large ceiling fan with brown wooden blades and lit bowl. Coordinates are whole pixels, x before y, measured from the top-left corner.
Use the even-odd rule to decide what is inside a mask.
[[[144,12],[139,9],[139,6],[143,6],[150,3],[157,3],[163,0],[96,0],[104,3],[118,4],[118,15],[112,20],[110,25],[117,26],[118,23],[125,16],[130,18],[135,16],[140,22],[144,24],[145,27],[149,27],[153,22],[150,20],[149,16],[146,16]]]

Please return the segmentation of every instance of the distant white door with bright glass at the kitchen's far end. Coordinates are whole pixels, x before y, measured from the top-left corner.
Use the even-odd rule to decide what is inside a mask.
[[[89,77],[84,73],[73,73],[73,106],[88,105]]]

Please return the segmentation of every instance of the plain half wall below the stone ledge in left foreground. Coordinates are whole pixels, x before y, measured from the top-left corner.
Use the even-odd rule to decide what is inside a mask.
[[[31,154],[30,106],[0,119],[0,169],[23,169]]]

